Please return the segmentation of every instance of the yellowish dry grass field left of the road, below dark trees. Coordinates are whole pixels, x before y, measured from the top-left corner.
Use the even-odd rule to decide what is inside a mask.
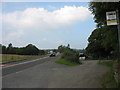
[[[14,54],[0,54],[0,57],[2,57],[2,61],[0,61],[0,63],[16,62],[16,61],[22,61],[22,60],[40,58],[40,57],[44,57],[44,56],[47,56],[47,55],[14,55]]]

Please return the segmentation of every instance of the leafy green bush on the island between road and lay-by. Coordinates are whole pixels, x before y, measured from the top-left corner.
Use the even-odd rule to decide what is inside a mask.
[[[73,51],[72,49],[67,48],[62,55],[63,59],[69,60],[71,62],[79,62],[79,54],[76,51]]]

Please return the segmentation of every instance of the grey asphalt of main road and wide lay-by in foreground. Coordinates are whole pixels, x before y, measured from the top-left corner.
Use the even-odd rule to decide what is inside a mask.
[[[101,78],[109,68],[97,60],[82,65],[56,64],[60,58],[46,57],[3,68],[3,88],[101,88]]]

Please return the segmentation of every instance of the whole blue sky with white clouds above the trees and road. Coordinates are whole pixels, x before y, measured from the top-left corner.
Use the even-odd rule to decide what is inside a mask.
[[[96,28],[88,2],[4,2],[0,20],[2,44],[14,47],[85,49]]]

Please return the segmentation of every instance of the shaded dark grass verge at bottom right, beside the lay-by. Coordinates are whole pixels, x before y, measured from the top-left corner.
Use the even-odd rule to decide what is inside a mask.
[[[102,87],[103,88],[117,88],[118,85],[114,79],[113,61],[99,62],[99,64],[110,67],[110,70],[103,75]]]

